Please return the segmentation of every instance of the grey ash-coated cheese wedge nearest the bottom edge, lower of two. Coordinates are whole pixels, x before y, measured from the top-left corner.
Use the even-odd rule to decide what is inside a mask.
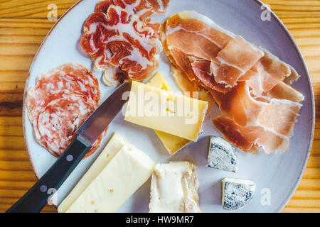
[[[225,210],[241,209],[255,195],[255,182],[250,180],[225,178],[222,183],[222,204]]]

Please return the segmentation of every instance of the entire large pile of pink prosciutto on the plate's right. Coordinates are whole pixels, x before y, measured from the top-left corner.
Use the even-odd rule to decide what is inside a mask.
[[[290,86],[299,78],[293,67],[193,11],[169,17],[161,42],[183,87],[212,94],[225,138],[249,153],[287,150],[304,99]]]

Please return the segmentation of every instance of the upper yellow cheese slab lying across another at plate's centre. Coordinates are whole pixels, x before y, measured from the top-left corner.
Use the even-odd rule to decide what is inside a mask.
[[[132,82],[124,120],[197,141],[208,102]]]

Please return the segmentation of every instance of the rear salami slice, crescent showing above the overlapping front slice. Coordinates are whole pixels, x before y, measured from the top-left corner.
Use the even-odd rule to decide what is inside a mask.
[[[100,101],[97,78],[82,65],[68,63],[41,74],[36,86],[28,90],[27,96],[28,116],[33,125],[36,125],[39,111],[44,106],[72,92],[89,96],[97,103]],[[38,138],[38,135],[36,137]]]

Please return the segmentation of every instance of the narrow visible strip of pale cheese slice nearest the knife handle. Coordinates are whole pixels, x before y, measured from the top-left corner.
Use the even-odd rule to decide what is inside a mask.
[[[127,142],[124,140],[122,135],[119,132],[114,133],[109,143],[102,153],[97,157],[97,160],[92,164],[89,170],[85,173],[85,175],[80,179],[77,185],[73,188],[73,190],[68,194],[67,197],[61,202],[58,206],[58,212],[64,213],[69,209],[69,207],[75,202],[75,200],[85,191],[87,186],[92,182],[97,175],[102,172],[102,170],[109,164],[114,155],[116,155],[119,150],[126,144]]]

